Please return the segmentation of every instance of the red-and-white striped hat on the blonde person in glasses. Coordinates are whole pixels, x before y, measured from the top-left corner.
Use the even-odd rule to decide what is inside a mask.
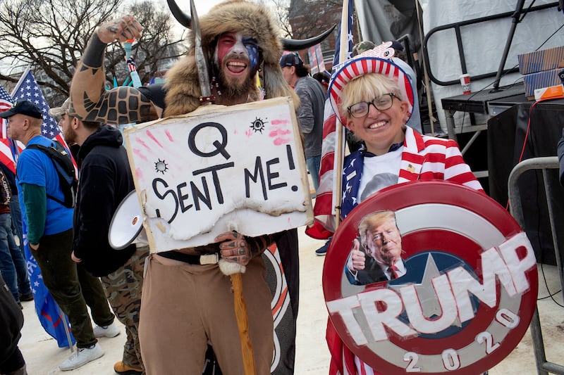
[[[329,101],[338,119],[341,120],[343,124],[346,124],[346,122],[343,121],[345,116],[339,113],[338,109],[338,105],[341,103],[343,88],[356,77],[368,73],[386,75],[395,80],[398,83],[403,100],[407,100],[410,104],[408,108],[409,113],[412,113],[413,89],[409,75],[390,60],[393,57],[393,49],[391,49],[390,46],[391,42],[386,42],[380,46],[376,46],[375,49],[361,53],[341,65],[336,66],[333,76],[331,77],[331,82],[329,83]]]

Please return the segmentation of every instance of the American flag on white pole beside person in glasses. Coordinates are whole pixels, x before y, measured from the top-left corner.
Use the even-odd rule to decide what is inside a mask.
[[[341,27],[335,46],[335,57],[333,58],[333,75],[338,65],[347,61],[353,54],[353,0],[343,0],[343,15],[341,18]],[[344,149],[345,143],[343,136],[339,142],[337,136],[337,116],[329,103],[329,96],[325,101],[325,115],[323,123],[323,142],[321,146],[321,167],[319,168],[319,189],[317,189],[314,216],[315,222],[312,227],[308,227],[305,233],[314,239],[328,239],[335,231],[335,212],[333,208],[336,204],[337,189],[336,186],[337,172],[340,173],[340,167],[336,166],[339,160],[335,158],[337,148]],[[339,123],[339,126],[342,126]],[[337,144],[339,143],[339,144]],[[339,203],[340,204],[340,203]]]

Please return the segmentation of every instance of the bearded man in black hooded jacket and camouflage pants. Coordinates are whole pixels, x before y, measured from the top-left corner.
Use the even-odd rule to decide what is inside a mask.
[[[149,247],[131,244],[115,250],[108,239],[114,212],[123,198],[135,189],[128,156],[116,127],[82,121],[71,108],[71,101],[67,100],[63,106],[52,108],[49,113],[61,116],[59,125],[68,144],[80,146],[72,258],[88,272],[100,277],[116,317],[125,325],[128,337],[123,348],[123,360],[114,364],[114,371],[118,374],[143,374],[137,329],[143,268]]]

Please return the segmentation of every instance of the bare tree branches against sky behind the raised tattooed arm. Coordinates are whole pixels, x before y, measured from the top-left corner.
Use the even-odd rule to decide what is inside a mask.
[[[151,1],[124,9],[123,0],[12,0],[0,3],[0,80],[18,82],[29,66],[48,101],[68,96],[74,67],[96,27],[116,15],[131,13],[145,27],[132,55],[142,82],[159,70],[159,63],[178,56],[168,10]],[[107,79],[122,83],[129,72],[123,46],[111,44],[106,54]],[[145,70],[145,66],[149,67]]]

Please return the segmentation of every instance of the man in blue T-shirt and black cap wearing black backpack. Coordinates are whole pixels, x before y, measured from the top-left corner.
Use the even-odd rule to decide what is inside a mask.
[[[114,326],[114,314],[98,277],[77,267],[71,259],[74,210],[63,203],[64,194],[54,162],[37,149],[56,146],[54,140],[42,135],[41,110],[30,101],[16,101],[0,115],[8,117],[8,136],[25,144],[18,158],[17,187],[31,254],[41,269],[45,286],[68,316],[76,341],[77,350],[59,369],[78,369],[104,355],[97,332],[100,332],[98,337],[111,336],[107,327]],[[92,319],[102,329],[94,331]],[[116,328],[113,335],[118,333]]]

